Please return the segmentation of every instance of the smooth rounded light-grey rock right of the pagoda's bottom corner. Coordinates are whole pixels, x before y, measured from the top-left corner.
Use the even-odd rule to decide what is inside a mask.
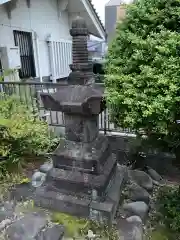
[[[127,212],[127,216],[137,215],[144,221],[148,215],[149,207],[144,202],[125,203],[123,210]]]

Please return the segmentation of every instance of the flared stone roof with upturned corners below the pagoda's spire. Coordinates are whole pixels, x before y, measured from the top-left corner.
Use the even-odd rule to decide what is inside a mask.
[[[41,99],[47,110],[91,117],[104,110],[102,95],[100,89],[97,90],[89,85],[76,87],[69,85],[63,86],[57,93],[41,93]]]

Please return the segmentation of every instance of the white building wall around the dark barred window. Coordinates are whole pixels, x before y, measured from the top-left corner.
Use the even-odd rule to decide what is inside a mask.
[[[39,77],[35,41],[37,34],[41,74],[49,76],[51,72],[46,39],[48,35],[51,35],[53,41],[71,39],[68,12],[58,11],[57,0],[31,0],[30,8],[27,7],[26,0],[18,0],[11,16],[11,19],[8,19],[3,5],[0,5],[0,46],[14,45],[13,30],[32,32],[36,75]]]

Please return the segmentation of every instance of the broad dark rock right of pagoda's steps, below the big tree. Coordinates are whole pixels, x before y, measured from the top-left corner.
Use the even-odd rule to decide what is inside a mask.
[[[153,181],[147,173],[140,170],[129,170],[128,174],[131,181],[136,182],[139,186],[145,188],[147,191],[152,191]]]

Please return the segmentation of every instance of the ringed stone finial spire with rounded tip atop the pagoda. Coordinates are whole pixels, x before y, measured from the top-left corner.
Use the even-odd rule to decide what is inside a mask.
[[[72,72],[69,84],[86,85],[94,82],[93,66],[88,60],[87,36],[89,35],[85,20],[77,16],[72,22],[70,30],[72,36]]]

